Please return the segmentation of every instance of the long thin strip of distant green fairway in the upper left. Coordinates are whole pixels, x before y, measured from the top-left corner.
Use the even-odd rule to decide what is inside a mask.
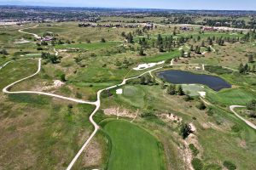
[[[95,50],[99,48],[110,48],[117,46],[120,42],[92,42],[92,43],[74,43],[74,44],[64,44],[57,45],[55,48],[81,48],[88,50]]]

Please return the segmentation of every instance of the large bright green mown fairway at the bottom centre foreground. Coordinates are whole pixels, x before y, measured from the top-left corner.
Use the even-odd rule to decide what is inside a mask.
[[[112,144],[108,169],[165,169],[160,142],[143,128],[119,120],[108,122],[104,130]]]

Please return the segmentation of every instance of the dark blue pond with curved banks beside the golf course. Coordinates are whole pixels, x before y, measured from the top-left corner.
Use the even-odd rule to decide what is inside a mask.
[[[213,77],[204,74],[194,74],[189,71],[161,71],[157,76],[164,79],[166,82],[173,84],[203,84],[207,85],[215,91],[223,88],[231,88],[230,83],[225,82],[220,77]]]

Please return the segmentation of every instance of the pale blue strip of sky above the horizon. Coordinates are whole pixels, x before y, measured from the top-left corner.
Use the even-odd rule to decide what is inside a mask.
[[[256,0],[0,0],[0,5],[256,10]]]

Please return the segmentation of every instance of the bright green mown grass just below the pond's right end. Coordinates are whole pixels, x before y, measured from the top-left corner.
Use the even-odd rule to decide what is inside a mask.
[[[218,93],[208,92],[207,99],[220,105],[246,105],[251,99],[255,99],[255,94],[245,88],[225,89]]]

